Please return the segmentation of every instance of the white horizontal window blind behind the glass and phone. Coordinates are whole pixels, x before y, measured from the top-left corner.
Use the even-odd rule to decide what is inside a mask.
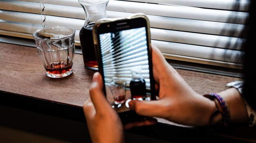
[[[145,13],[151,41],[165,58],[241,69],[249,0],[110,0],[107,16]],[[78,0],[0,0],[0,34],[33,39],[42,26],[79,30],[85,14]]]

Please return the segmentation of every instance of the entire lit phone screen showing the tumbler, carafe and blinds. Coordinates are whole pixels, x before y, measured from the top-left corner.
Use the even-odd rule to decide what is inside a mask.
[[[117,112],[129,111],[127,100],[150,99],[146,28],[99,35],[107,99]]]

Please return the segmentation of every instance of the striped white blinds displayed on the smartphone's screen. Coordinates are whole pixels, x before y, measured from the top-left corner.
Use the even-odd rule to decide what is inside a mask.
[[[133,78],[143,78],[150,95],[146,38],[145,27],[99,35],[106,87],[112,80],[125,80],[129,90]]]

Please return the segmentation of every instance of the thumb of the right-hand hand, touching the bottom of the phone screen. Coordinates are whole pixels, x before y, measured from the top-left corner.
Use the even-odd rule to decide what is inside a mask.
[[[135,110],[135,112],[139,115],[148,117],[163,117],[162,110],[164,108],[164,105],[160,100],[131,100],[128,104],[130,109]]]

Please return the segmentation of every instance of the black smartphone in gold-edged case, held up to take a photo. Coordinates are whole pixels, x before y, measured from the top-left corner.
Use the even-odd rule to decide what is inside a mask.
[[[145,119],[128,108],[130,100],[156,100],[146,15],[101,19],[92,30],[104,93],[123,122]]]

